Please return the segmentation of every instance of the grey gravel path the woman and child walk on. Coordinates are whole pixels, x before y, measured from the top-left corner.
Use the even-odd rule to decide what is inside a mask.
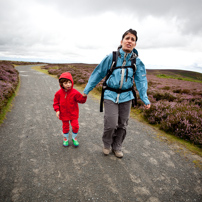
[[[80,106],[80,146],[62,146],[53,111],[58,81],[18,66],[21,87],[0,127],[0,201],[201,202],[202,171],[130,119],[124,158],[102,154],[103,113]]]

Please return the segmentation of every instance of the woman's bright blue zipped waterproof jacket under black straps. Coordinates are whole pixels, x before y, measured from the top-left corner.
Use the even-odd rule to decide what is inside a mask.
[[[124,63],[124,66],[130,66],[132,52],[125,53],[122,49],[120,49],[119,52],[120,55],[117,58],[116,66],[123,66]],[[134,52],[137,53],[135,49]],[[94,69],[84,89],[85,94],[88,94],[91,90],[93,90],[93,88],[107,75],[108,70],[111,68],[112,60],[113,54],[111,53],[106,56]],[[116,89],[129,89],[133,86],[134,79],[136,88],[140,95],[140,99],[144,102],[144,104],[148,105],[150,102],[147,96],[146,70],[144,64],[138,57],[136,58],[136,67],[137,70],[135,74],[133,73],[132,68],[128,68],[128,73],[126,73],[126,69],[115,69],[107,80],[107,86]],[[115,103],[122,103],[134,99],[134,96],[132,91],[117,94],[116,92],[105,90],[104,99],[111,100]]]

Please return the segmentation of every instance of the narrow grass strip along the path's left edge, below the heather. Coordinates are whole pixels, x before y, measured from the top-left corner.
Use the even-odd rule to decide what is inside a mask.
[[[15,93],[13,93],[13,95],[8,99],[8,102],[6,104],[6,106],[3,107],[2,112],[0,113],[0,125],[4,122],[4,120],[6,119],[6,114],[11,111],[12,108],[12,102],[15,98],[15,96],[17,95],[18,91],[20,89],[20,79],[19,79],[19,83],[18,86],[15,90]]]

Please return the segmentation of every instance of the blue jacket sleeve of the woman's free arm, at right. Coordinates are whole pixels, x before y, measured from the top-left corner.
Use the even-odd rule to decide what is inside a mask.
[[[147,96],[147,77],[146,77],[146,69],[143,62],[137,58],[136,60],[137,70],[134,76],[135,85],[139,92],[140,99],[144,102],[144,104],[150,104],[150,101]]]

